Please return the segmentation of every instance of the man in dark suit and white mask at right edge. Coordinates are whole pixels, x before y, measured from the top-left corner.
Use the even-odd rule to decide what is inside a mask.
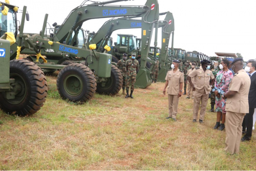
[[[253,120],[253,113],[254,109],[256,108],[256,61],[249,61],[247,66],[245,67],[245,71],[249,74],[251,79],[251,86],[248,95],[249,101],[249,113],[247,113],[244,117],[243,121],[243,132],[245,132],[244,137],[241,141],[250,141],[251,140],[251,133],[252,133],[252,120]]]

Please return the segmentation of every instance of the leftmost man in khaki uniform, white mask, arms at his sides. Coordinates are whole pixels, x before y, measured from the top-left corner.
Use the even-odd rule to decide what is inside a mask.
[[[173,61],[171,66],[173,70],[167,72],[165,77],[166,82],[163,89],[163,94],[165,95],[165,89],[167,87],[169,102],[169,116],[166,119],[172,118],[174,121],[177,121],[176,116],[178,112],[179,97],[181,96],[184,82],[184,74],[178,69],[179,63],[179,60]]]

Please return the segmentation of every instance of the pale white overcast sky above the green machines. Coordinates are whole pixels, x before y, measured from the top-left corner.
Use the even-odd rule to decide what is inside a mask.
[[[109,0],[108,0],[109,1]],[[25,24],[24,32],[39,33],[45,14],[48,23],[62,24],[71,10],[83,1],[67,0],[10,0],[20,10],[27,6],[30,21]],[[102,1],[104,2],[104,1]],[[146,0],[114,3],[113,5],[143,6]],[[256,1],[255,0],[158,0],[159,12],[172,12],[175,20],[174,48],[198,51],[208,56],[215,52],[240,53],[244,60],[256,59]],[[89,3],[90,4],[90,3]],[[21,14],[19,14],[21,17]],[[84,30],[97,31],[106,20],[92,19],[82,26]],[[160,16],[160,20],[164,16]],[[141,37],[141,29],[118,30],[117,34],[134,34]],[[154,46],[153,33],[151,46]],[[172,45],[170,38],[169,47]],[[158,31],[158,46],[161,47],[161,31]]]

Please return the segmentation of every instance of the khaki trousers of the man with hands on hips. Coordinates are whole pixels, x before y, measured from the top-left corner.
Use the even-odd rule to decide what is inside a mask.
[[[193,112],[193,119],[197,119],[200,101],[201,101],[201,111],[199,119],[204,120],[204,115],[206,111],[206,106],[208,102],[209,94],[199,93],[197,91],[194,92],[194,112]]]

